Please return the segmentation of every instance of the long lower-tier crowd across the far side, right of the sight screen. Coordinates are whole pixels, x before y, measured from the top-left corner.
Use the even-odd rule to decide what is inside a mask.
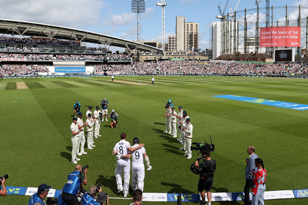
[[[300,64],[261,64],[261,63],[229,63],[209,61],[158,61],[118,63],[109,65],[110,71],[120,74],[232,74],[232,75],[264,75],[291,74]],[[107,69],[107,65],[95,65],[96,71]]]

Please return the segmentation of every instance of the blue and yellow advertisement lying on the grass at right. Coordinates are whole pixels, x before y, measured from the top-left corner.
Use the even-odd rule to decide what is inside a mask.
[[[254,97],[244,97],[244,96],[237,96],[237,95],[216,95],[212,97],[221,97],[221,98],[226,98],[226,99],[231,99],[231,100],[236,100],[236,101],[265,104],[265,105],[276,106],[276,107],[281,107],[281,108],[289,108],[289,109],[295,109],[295,110],[308,110],[307,104],[266,100],[266,99],[260,99],[260,98],[254,98]]]

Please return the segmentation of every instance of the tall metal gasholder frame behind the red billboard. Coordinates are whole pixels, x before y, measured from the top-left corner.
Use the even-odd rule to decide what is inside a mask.
[[[256,1],[256,6],[257,8],[235,11],[232,15],[227,14],[220,24],[213,22],[213,26],[220,26],[217,27],[217,31],[222,29],[219,36],[212,36],[212,45],[216,45],[213,49],[217,49],[217,53],[259,52],[272,55],[274,48],[281,47],[260,47],[259,30],[261,27],[273,26],[301,27],[301,45],[296,47],[295,54],[301,56],[301,49],[308,49],[308,7],[300,5],[270,7],[269,0],[266,0],[266,7],[259,7],[259,1]]]

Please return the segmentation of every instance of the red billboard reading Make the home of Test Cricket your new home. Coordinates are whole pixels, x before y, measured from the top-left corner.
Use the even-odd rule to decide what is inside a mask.
[[[260,28],[260,47],[300,47],[301,27]]]

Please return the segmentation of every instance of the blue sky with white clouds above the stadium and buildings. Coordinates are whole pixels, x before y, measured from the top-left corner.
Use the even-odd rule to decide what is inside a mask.
[[[144,0],[145,12],[140,13],[140,40],[162,41],[160,0]],[[127,40],[137,39],[137,14],[131,11],[131,0],[0,0],[0,18],[45,23],[80,30],[87,30]],[[176,16],[186,16],[187,22],[199,23],[201,50],[210,48],[210,22],[219,21],[218,5],[223,10],[227,0],[165,0],[165,42],[168,35],[175,35]],[[235,8],[238,0],[229,0]],[[270,6],[308,7],[308,0],[270,0]],[[256,8],[255,0],[241,0],[237,11]],[[261,0],[259,7],[265,7]],[[306,16],[305,16],[306,17]],[[88,46],[98,47],[96,44]],[[111,51],[124,48],[111,47]]]

